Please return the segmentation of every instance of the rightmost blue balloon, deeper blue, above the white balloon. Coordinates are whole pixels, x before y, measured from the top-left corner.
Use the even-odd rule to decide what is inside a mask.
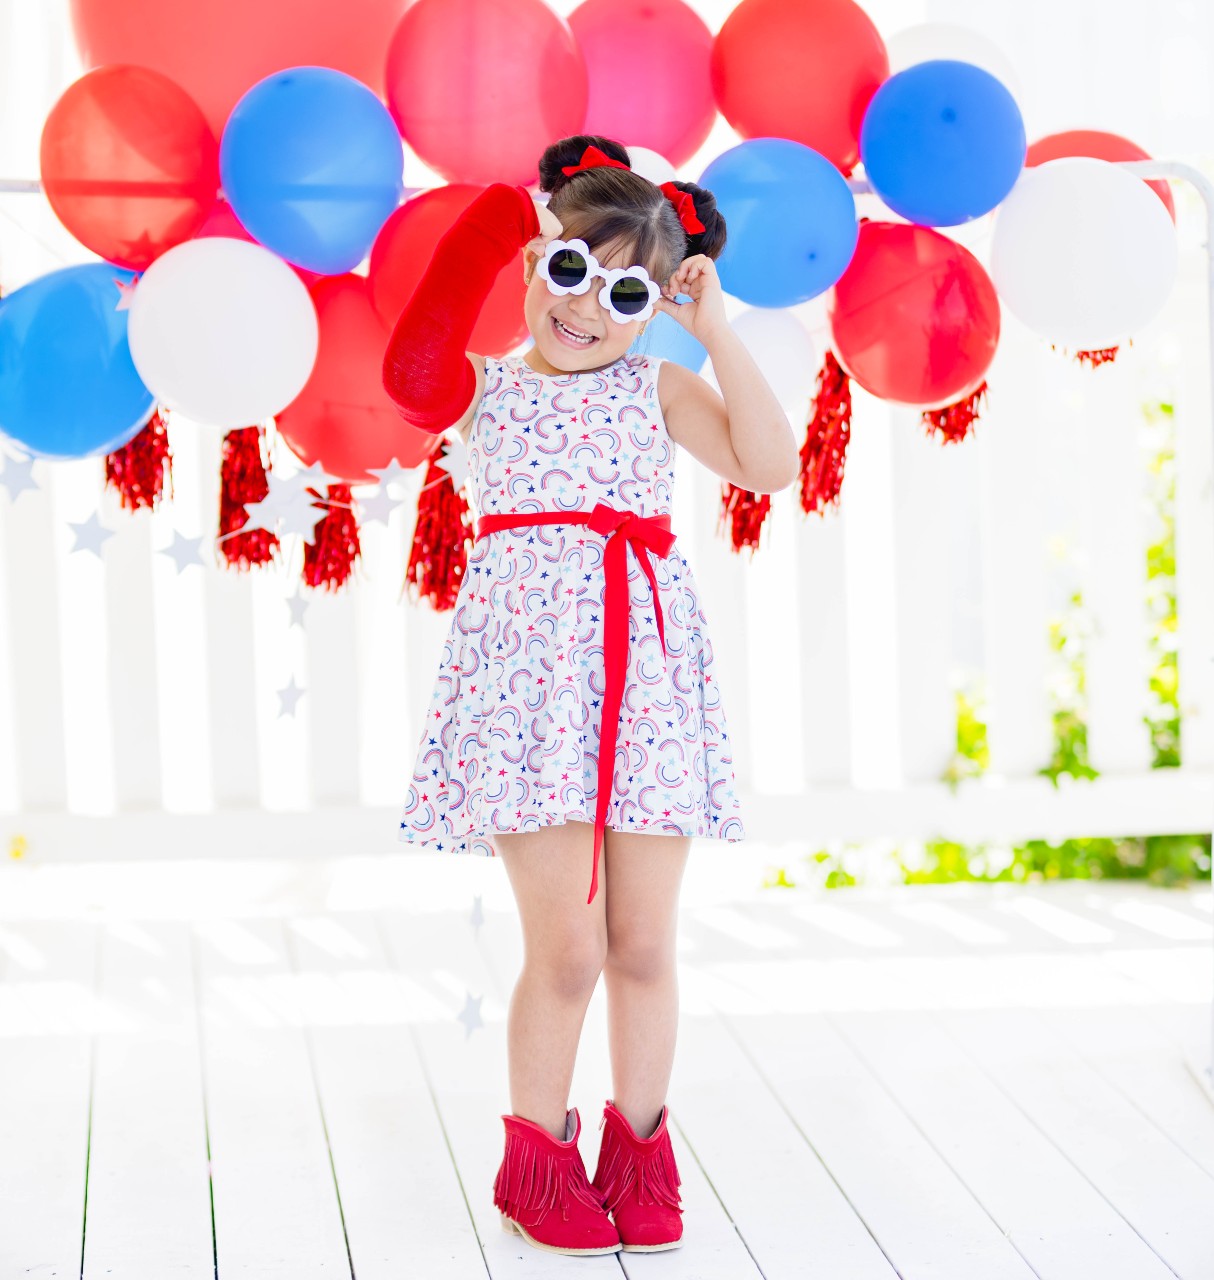
[[[1024,122],[990,72],[937,59],[891,76],[861,125],[872,189],[907,221],[957,227],[990,212],[1024,168]]]

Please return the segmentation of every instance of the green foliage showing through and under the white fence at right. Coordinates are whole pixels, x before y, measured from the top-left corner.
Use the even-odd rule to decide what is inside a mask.
[[[1150,475],[1149,500],[1156,527],[1146,549],[1150,692],[1154,704],[1144,717],[1150,733],[1154,768],[1181,763],[1179,669],[1177,666],[1176,595],[1176,447],[1173,407],[1165,402],[1144,406]],[[1054,745],[1049,764],[1039,772],[1054,786],[1069,778],[1095,778],[1099,771],[1087,758],[1086,645],[1091,618],[1082,593],[1072,593],[1068,608],[1050,620],[1054,654],[1050,680]],[[980,777],[990,764],[986,740],[985,690],[977,680],[954,690],[957,749],[943,781],[955,790],[966,778]],[[1210,836],[1160,835],[1133,837],[1077,837],[1051,844],[1028,840],[1019,845],[995,841],[963,845],[950,840],[907,842],[890,850],[903,883],[927,884],[955,881],[1145,879],[1154,884],[1186,884],[1210,874]],[[818,849],[803,858],[807,879],[823,888],[864,881],[858,863],[862,844]],[[850,861],[853,870],[845,863]],[[784,867],[770,869],[765,887],[795,887]]]

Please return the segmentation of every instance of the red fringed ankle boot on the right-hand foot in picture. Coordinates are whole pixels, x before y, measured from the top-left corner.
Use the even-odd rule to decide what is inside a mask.
[[[638,1138],[608,1098],[598,1123],[603,1138],[592,1181],[607,1202],[624,1249],[631,1253],[656,1253],[683,1244],[681,1179],[666,1128],[668,1115],[670,1108],[663,1106],[657,1129],[648,1138]]]

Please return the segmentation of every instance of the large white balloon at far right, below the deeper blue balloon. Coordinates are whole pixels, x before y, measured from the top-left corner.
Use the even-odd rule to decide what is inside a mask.
[[[1000,302],[1048,342],[1113,347],[1163,307],[1176,229],[1141,178],[1090,156],[1026,169],[995,214],[991,279]]]

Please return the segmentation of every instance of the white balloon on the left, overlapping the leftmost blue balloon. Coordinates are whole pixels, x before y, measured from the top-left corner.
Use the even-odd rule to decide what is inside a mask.
[[[304,389],[320,328],[307,287],[261,244],[174,244],[140,276],[131,358],[156,399],[196,422],[252,426]]]

